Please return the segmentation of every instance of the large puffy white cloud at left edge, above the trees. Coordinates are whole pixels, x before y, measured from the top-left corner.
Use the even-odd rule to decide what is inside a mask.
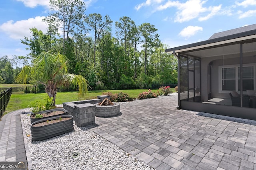
[[[29,18],[28,20],[20,20],[14,22],[13,20],[7,21],[0,25],[0,30],[12,39],[23,39],[24,36],[30,37],[30,28],[36,27],[44,33],[47,31],[47,24],[42,21],[44,16],[37,16],[36,18]]]

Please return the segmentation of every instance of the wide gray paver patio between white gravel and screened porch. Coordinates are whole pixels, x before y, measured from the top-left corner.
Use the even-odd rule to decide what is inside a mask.
[[[176,95],[122,103],[87,127],[157,170],[256,169],[256,121],[176,106]]]

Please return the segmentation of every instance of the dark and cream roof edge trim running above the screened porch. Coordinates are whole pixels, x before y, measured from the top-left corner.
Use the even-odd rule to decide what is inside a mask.
[[[256,24],[254,24],[254,26],[256,26]],[[173,51],[175,51],[175,53],[181,53],[181,52],[186,52],[186,51],[195,51],[195,50],[211,48],[211,47],[216,47],[216,46],[223,46],[223,45],[227,45],[229,43],[235,43],[235,42],[239,42],[239,41],[247,41],[250,39],[256,39],[256,29],[166,49],[165,52],[173,53]]]

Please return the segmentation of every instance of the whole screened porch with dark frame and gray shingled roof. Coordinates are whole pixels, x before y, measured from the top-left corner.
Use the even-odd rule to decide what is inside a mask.
[[[256,120],[256,24],[165,52],[178,58],[177,108]]]

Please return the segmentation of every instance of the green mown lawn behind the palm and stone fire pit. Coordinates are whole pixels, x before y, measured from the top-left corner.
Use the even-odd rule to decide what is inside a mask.
[[[102,92],[111,92],[113,94],[118,92],[124,92],[128,94],[132,98],[137,98],[141,92],[148,91],[148,89],[136,89],[136,90],[94,90],[89,91],[86,95],[86,99],[95,99],[97,96],[102,95]],[[157,92],[157,90],[152,90],[152,92]],[[46,93],[28,93],[24,92],[14,92],[10,98],[10,101],[6,107],[4,114],[7,114],[14,110],[25,109],[28,108],[28,105],[37,100],[42,100],[46,96]],[[58,92],[56,95],[56,104],[62,104],[64,102],[72,102],[77,101],[78,92]]]

